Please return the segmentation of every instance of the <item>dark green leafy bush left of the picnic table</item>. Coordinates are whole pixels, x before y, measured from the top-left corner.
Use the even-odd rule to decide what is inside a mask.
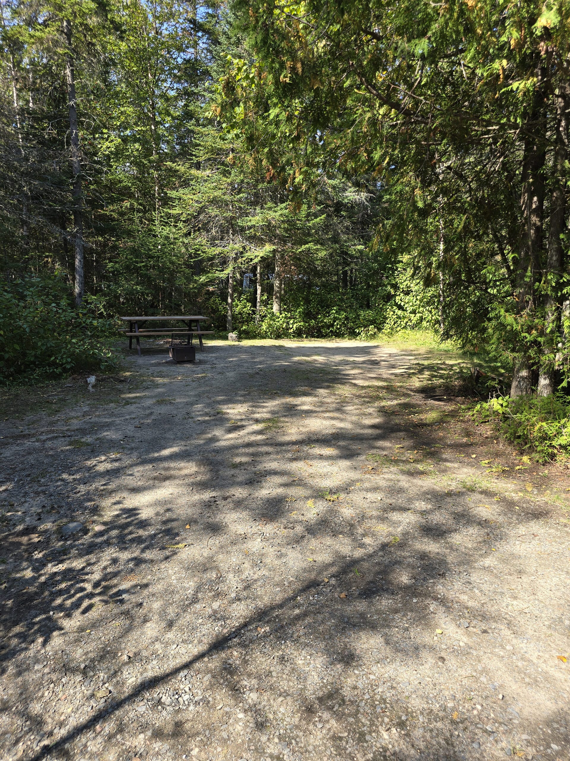
[[[0,383],[114,366],[112,320],[94,298],[75,307],[54,276],[0,285]]]

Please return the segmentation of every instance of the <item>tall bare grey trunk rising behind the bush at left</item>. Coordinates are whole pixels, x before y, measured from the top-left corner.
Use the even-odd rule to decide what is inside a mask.
[[[74,60],[71,43],[71,21],[63,22],[63,33],[67,43],[65,56],[65,78],[68,85],[69,132],[71,142],[71,170],[73,171],[73,242],[75,249],[75,304],[81,304],[85,290],[84,241],[83,241],[83,198],[81,193],[81,154],[79,152],[79,129],[77,98],[75,96]]]

